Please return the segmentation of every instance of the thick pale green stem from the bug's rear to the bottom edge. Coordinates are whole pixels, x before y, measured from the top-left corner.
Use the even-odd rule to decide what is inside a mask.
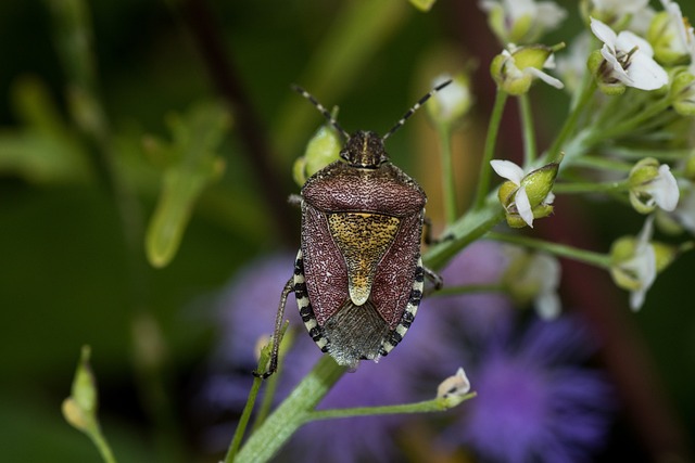
[[[296,429],[306,423],[314,408],[348,370],[330,356],[323,356],[290,396],[268,416],[237,453],[237,463],[266,462]],[[231,463],[226,459],[225,463]]]

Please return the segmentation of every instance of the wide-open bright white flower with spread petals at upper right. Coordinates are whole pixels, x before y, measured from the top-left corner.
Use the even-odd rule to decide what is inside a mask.
[[[641,90],[656,90],[668,83],[668,74],[652,59],[654,50],[646,40],[629,30],[616,35],[593,17],[591,30],[604,42],[601,54],[608,65],[605,80],[615,79]]]

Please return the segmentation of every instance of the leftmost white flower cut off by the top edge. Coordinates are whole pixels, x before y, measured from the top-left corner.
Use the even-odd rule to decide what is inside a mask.
[[[552,1],[481,0],[478,4],[488,13],[490,26],[502,43],[533,42],[567,16]]]

